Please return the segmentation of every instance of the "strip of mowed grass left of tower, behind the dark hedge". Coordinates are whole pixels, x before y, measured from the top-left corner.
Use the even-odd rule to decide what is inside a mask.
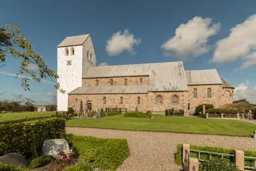
[[[18,121],[24,118],[41,118],[51,116],[55,112],[7,112],[0,113],[0,123],[8,121]]]

